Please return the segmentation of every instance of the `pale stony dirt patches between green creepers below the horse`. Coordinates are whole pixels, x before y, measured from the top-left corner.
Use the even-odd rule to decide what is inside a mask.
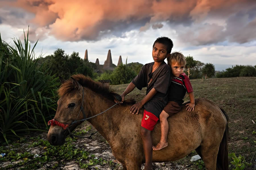
[[[80,125],[76,129],[76,131],[80,131],[82,129],[86,129],[86,127],[91,127],[91,129],[84,135],[84,136],[90,136],[91,133],[95,132],[96,129],[94,129],[90,123],[85,122],[83,125]],[[33,135],[40,136],[41,139],[47,140],[47,133],[37,133]],[[30,138],[29,136],[27,138]],[[31,154],[37,154],[38,156],[42,156],[43,152],[45,150],[43,149],[43,146],[39,145],[36,147],[29,147],[29,145],[32,143],[32,141],[28,140],[26,143],[23,143],[20,145],[20,148],[23,148],[23,152],[29,152]],[[76,138],[76,141],[72,142],[72,144],[75,144],[75,148],[78,148],[80,150],[85,150],[90,153],[90,155],[94,155],[94,159],[102,158],[103,160],[108,161],[107,163],[103,163],[102,165],[96,164],[96,165],[90,165],[87,169],[102,169],[102,170],[122,170],[123,167],[121,163],[119,163],[115,157],[112,155],[112,150],[107,143],[107,141],[99,134],[96,133],[92,136],[92,139],[88,138]],[[8,146],[9,148],[15,149],[15,147],[11,144]],[[18,148],[16,148],[18,150]],[[12,150],[12,149],[11,149]],[[192,156],[187,156],[187,159],[191,159]],[[16,166],[18,163],[22,162],[23,160],[20,159],[18,161],[13,162],[0,162],[0,169],[23,169],[24,166]],[[64,162],[64,163],[63,163]],[[83,162],[83,163],[89,163],[89,161]],[[53,168],[56,164],[62,164],[58,168]],[[8,166],[9,165],[9,166]],[[10,167],[10,165],[14,165],[13,168]],[[177,169],[183,169],[187,170],[192,165],[181,165],[175,162],[165,162],[165,163],[153,163],[153,167],[155,170],[161,169],[161,170],[177,170]],[[8,167],[7,167],[8,166]],[[142,169],[144,168],[144,164],[142,165]],[[46,170],[46,169],[64,169],[64,170],[79,170],[83,169],[80,168],[79,163],[77,160],[74,159],[62,159],[60,161],[49,161],[46,163],[43,163],[42,168],[39,168],[38,170]]]

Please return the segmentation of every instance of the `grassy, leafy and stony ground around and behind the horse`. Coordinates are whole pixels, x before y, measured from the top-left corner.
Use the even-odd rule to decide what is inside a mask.
[[[236,167],[256,169],[256,77],[234,77],[191,80],[196,98],[207,98],[223,108],[230,120],[229,153],[230,169]],[[127,84],[112,86],[121,94]],[[127,98],[141,100],[145,90],[135,89]],[[185,100],[189,97],[185,96]],[[85,136],[93,132],[85,122],[75,133]],[[67,138],[63,146],[51,146],[47,133],[35,133],[0,146],[6,156],[0,158],[0,169],[122,169],[115,161],[111,149],[98,133],[92,139]],[[1,154],[0,153],[0,154]],[[235,153],[235,154],[232,154]],[[193,151],[175,162],[154,163],[155,169],[205,169],[201,160],[190,162]],[[241,156],[239,156],[241,155]]]

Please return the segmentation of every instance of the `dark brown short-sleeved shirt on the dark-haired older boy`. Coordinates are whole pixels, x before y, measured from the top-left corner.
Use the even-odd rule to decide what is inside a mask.
[[[146,94],[154,88],[157,93],[144,104],[146,111],[151,112],[159,118],[164,106],[167,104],[167,92],[170,84],[170,67],[163,62],[153,73],[154,62],[145,64],[139,74],[132,80],[132,83],[141,90],[147,87]]]

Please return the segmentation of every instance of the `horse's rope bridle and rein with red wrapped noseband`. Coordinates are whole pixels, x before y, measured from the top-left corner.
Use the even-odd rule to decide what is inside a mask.
[[[122,100],[122,98],[121,98],[120,95],[115,95],[115,97],[116,97],[116,99],[119,100],[119,101]],[[48,125],[53,125],[53,126],[57,125],[57,126],[62,127],[64,130],[67,129],[71,138],[73,138],[73,137],[81,137],[81,138],[89,138],[89,139],[90,139],[90,138],[92,137],[92,135],[94,135],[94,134],[97,133],[98,131],[96,131],[96,132],[94,132],[94,133],[91,133],[90,137],[83,137],[83,136],[78,136],[78,135],[72,135],[72,134],[71,134],[71,131],[69,130],[69,126],[70,126],[70,125],[73,125],[74,123],[77,123],[77,122],[80,122],[80,121],[85,121],[85,120],[91,119],[92,117],[96,117],[96,116],[98,116],[98,115],[100,115],[100,114],[102,114],[102,113],[104,113],[104,112],[110,110],[112,107],[114,107],[115,105],[119,104],[119,102],[117,102],[116,104],[114,104],[113,106],[111,106],[110,108],[108,108],[107,110],[105,110],[105,111],[103,111],[103,112],[101,112],[101,113],[99,113],[99,114],[96,114],[96,115],[94,115],[94,116],[88,117],[88,118],[85,117],[83,104],[84,104],[84,89],[83,89],[83,96],[82,96],[82,104],[81,104],[81,107],[80,107],[80,111],[79,111],[79,113],[78,113],[78,115],[77,115],[77,117],[78,117],[79,114],[80,114],[80,112],[82,111],[82,113],[83,113],[83,115],[84,115],[84,119],[76,120],[76,119],[77,119],[77,117],[76,117],[76,119],[75,119],[73,122],[69,123],[69,124],[60,123],[59,121],[52,119],[52,120],[49,120],[49,121],[48,121]]]

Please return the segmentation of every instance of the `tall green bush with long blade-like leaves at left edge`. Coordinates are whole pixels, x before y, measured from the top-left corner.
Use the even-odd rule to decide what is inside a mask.
[[[7,46],[0,36],[0,139],[7,143],[30,130],[48,129],[47,121],[57,108],[55,91],[60,84],[48,74],[49,68],[44,70],[37,63],[36,44],[30,50],[28,35],[24,33],[24,47],[20,39],[13,43],[14,47]]]

